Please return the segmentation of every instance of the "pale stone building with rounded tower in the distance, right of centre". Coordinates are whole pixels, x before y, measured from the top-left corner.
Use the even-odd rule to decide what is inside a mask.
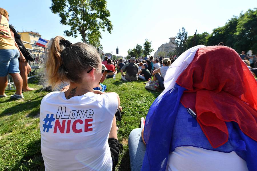
[[[167,55],[169,54],[169,52],[174,52],[174,50],[176,50],[176,44],[175,44],[175,39],[176,37],[170,37],[169,38],[170,41],[168,43],[164,43],[162,44],[158,50],[154,53],[154,58],[156,56],[160,56],[160,54],[158,54],[159,52],[162,52],[162,56],[164,56],[164,58],[168,57]]]

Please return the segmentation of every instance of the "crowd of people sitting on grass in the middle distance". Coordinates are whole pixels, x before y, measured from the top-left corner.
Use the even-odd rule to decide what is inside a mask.
[[[114,78],[115,75],[121,72],[121,79],[124,81],[159,81],[159,90],[164,89],[164,77],[169,66],[175,61],[176,55],[170,55],[170,58],[146,56],[136,59],[131,57],[129,60],[111,60],[105,54],[102,54],[102,59],[107,68],[107,78]],[[126,74],[125,74],[126,72]]]

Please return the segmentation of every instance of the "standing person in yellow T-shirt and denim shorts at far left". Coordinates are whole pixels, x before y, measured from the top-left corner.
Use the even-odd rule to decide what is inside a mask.
[[[26,59],[19,52],[18,45],[11,36],[9,28],[8,12],[0,8],[0,97],[7,97],[5,87],[7,86],[7,75],[10,74],[16,86],[16,92],[11,95],[13,99],[22,99],[22,78],[19,70],[19,61],[25,62]]]

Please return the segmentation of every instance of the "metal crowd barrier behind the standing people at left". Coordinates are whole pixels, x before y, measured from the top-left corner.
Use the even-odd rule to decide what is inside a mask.
[[[27,44],[31,44],[33,46],[38,46],[29,42],[25,42],[22,41],[23,44],[27,43]],[[41,46],[39,46],[41,47]],[[41,47],[43,48],[43,47]],[[28,75],[28,79],[36,77],[36,76],[40,76],[43,74],[44,72],[44,66],[45,66],[45,48],[44,51],[39,51],[39,50],[33,50],[33,49],[28,49],[27,50],[29,52],[31,52],[31,54],[33,54],[33,57],[35,57],[35,61],[28,61],[29,65],[31,66],[31,72],[29,72]],[[11,90],[11,89],[16,89],[14,83],[13,83],[13,79],[10,75],[7,76],[7,80],[8,80],[8,84],[7,84],[7,89]]]

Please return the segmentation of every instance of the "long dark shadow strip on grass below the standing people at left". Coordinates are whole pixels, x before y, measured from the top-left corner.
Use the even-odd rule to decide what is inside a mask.
[[[7,109],[5,109],[1,114],[0,114],[0,117],[3,117],[5,115],[10,115],[13,114],[13,113],[18,113],[20,111],[23,111],[23,110],[26,110],[26,109],[33,109],[34,107],[37,107],[40,105],[41,103],[41,98],[42,96],[39,96],[39,97],[36,97],[35,99],[32,99],[30,101],[26,101],[25,103],[20,103],[20,104],[17,104],[15,106],[12,106],[12,107],[9,107]],[[39,99],[39,100],[36,100],[36,99]],[[8,101],[8,100],[7,100]],[[9,100],[9,101],[13,101],[13,100]],[[34,113],[34,112],[33,112]],[[31,112],[31,114],[33,114]],[[36,113],[36,112],[35,112]],[[30,114],[30,115],[31,115]]]

